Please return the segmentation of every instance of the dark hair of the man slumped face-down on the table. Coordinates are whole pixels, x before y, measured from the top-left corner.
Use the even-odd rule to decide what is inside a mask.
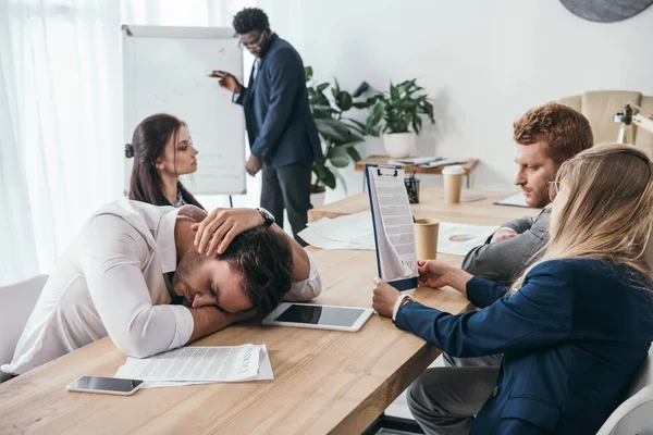
[[[243,276],[243,289],[254,308],[272,311],[292,285],[293,252],[283,235],[258,226],[232,240],[218,256]]]

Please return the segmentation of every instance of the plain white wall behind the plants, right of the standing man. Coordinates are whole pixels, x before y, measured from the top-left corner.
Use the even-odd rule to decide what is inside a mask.
[[[653,95],[653,7],[600,24],[554,0],[257,3],[318,79],[384,89],[391,79],[417,77],[435,100],[438,122],[418,152],[479,158],[476,188],[510,188],[512,125],[529,108],[592,89]],[[361,147],[382,150],[379,139]],[[349,194],[359,191],[360,174],[346,174]]]

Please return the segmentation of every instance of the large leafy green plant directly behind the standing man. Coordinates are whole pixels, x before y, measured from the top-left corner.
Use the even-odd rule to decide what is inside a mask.
[[[324,203],[325,188],[335,188],[336,179],[345,181],[338,173],[340,167],[346,167],[352,161],[360,160],[356,145],[362,142],[364,136],[370,134],[367,126],[345,112],[352,109],[367,109],[371,103],[366,97],[370,86],[362,82],[354,92],[341,89],[337,79],[334,84],[313,82],[312,67],[305,67],[306,87],[310,111],[316,120],[324,156],[313,163],[313,182],[311,183],[311,204]],[[324,94],[331,88],[332,99]]]

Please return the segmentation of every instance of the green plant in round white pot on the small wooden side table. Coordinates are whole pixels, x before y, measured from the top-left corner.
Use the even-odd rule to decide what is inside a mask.
[[[393,159],[412,154],[415,139],[422,128],[423,115],[431,124],[435,124],[433,104],[422,90],[414,78],[398,85],[391,83],[389,94],[379,92],[368,100],[370,114],[367,127],[372,129],[381,124],[383,146],[387,156]]]

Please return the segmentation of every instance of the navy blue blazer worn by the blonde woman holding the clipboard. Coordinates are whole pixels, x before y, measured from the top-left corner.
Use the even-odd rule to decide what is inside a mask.
[[[410,302],[396,325],[454,357],[504,353],[470,434],[595,434],[653,340],[653,296],[633,276],[601,260],[545,261],[509,297],[472,278],[467,297],[480,311],[452,315]]]

